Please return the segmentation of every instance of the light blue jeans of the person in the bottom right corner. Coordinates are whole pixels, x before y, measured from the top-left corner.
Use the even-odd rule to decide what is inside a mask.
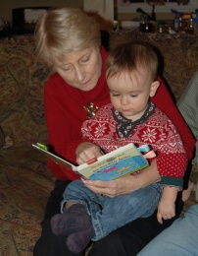
[[[198,204],[191,206],[183,218],[174,221],[137,255],[198,255]]]

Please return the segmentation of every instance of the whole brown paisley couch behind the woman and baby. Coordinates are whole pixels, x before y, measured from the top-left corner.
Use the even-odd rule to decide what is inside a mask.
[[[176,101],[198,67],[198,35],[110,32],[110,36],[124,35],[157,46],[162,54],[161,75]],[[5,136],[0,149],[1,255],[32,255],[54,186],[45,157],[31,147],[36,142],[47,144],[43,89],[51,73],[34,54],[33,34],[0,38],[0,127]],[[197,173],[192,166],[193,181]],[[193,194],[184,211],[195,202]]]

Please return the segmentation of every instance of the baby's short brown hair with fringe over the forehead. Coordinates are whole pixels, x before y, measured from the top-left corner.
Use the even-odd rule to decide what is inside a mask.
[[[157,80],[158,66],[159,59],[154,45],[145,41],[119,38],[111,45],[106,61],[106,77],[108,79],[122,72],[137,71],[139,67],[144,67],[153,82]]]

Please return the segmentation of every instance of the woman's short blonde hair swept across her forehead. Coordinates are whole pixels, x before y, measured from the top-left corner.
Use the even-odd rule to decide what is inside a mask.
[[[50,10],[38,20],[34,38],[36,54],[51,65],[62,61],[67,53],[101,44],[94,17],[74,8]]]

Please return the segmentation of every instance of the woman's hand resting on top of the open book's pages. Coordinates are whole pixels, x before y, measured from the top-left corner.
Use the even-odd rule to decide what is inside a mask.
[[[78,164],[82,164],[87,160],[92,160],[94,158],[98,158],[104,155],[99,146],[90,142],[83,142],[79,144],[75,154],[76,154],[76,162]]]

